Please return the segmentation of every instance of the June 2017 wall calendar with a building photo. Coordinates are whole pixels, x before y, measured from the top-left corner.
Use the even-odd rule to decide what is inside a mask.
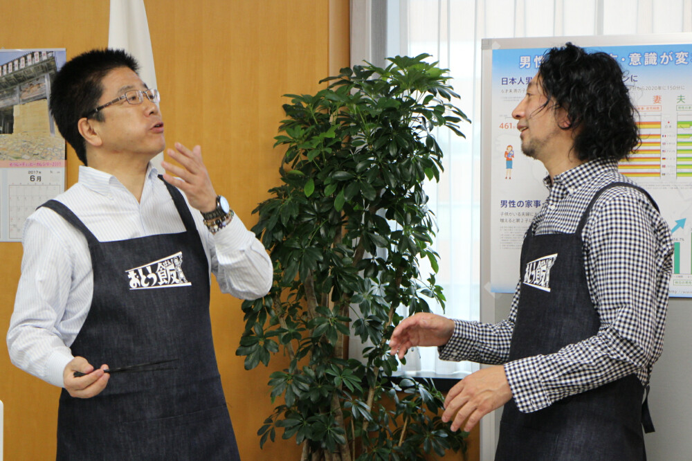
[[[0,50],[0,242],[65,190],[65,140],[48,111],[64,49]]]

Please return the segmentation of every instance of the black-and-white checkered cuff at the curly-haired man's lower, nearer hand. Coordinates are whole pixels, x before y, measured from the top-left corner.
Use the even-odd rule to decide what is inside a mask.
[[[531,413],[552,404],[538,372],[540,357],[532,356],[504,364],[504,374],[507,375],[512,397],[522,413]]]

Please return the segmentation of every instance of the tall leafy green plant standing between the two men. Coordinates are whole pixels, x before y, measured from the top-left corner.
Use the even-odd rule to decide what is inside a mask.
[[[387,340],[401,316],[444,306],[431,248],[435,222],[422,183],[439,180],[442,152],[433,131],[464,136],[468,121],[446,69],[429,55],[389,58],[341,70],[315,95],[286,95],[275,145],[285,146],[282,184],[254,213],[271,251],[273,287],[244,302],[237,354],[250,370],[283,350],[289,368],[273,372],[280,398],[258,431],[260,446],[302,444],[302,460],[408,460],[465,450],[465,434],[438,416],[432,383],[394,381]],[[369,341],[365,363],[345,354],[349,336]]]

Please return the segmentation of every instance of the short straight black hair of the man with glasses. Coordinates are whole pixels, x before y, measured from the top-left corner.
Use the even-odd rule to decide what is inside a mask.
[[[51,114],[57,129],[86,165],[86,141],[78,129],[80,118],[95,109],[103,93],[101,81],[112,71],[129,67],[139,70],[137,61],[124,50],[91,50],[66,62],[51,84]],[[92,116],[103,121],[100,111]]]

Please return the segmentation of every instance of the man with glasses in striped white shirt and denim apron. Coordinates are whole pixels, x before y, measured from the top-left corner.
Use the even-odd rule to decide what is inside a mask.
[[[64,388],[58,459],[238,459],[210,273],[255,299],[271,261],[215,192],[199,146],[176,143],[179,166],[163,162],[158,177],[160,96],[137,70],[124,51],[95,50],[55,76],[51,113],[84,165],[26,221],[10,357]]]

